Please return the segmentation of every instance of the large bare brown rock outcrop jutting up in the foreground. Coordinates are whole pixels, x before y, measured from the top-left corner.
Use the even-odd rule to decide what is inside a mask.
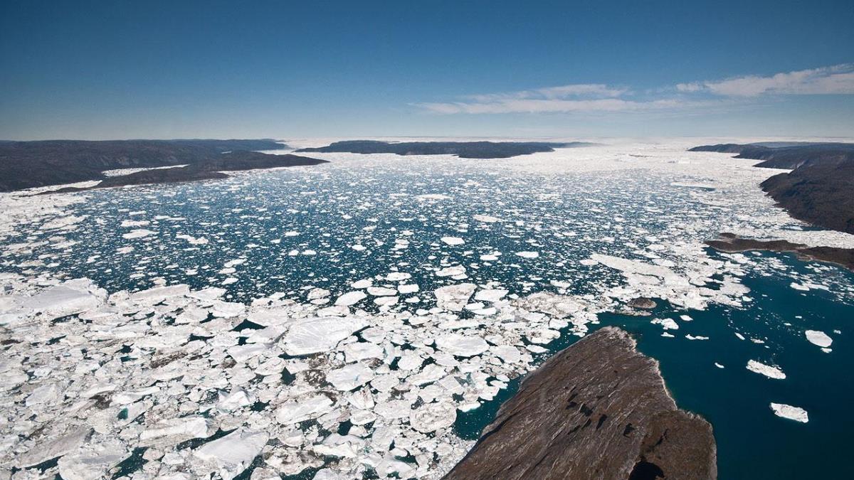
[[[679,410],[658,362],[605,327],[547,360],[447,480],[717,478],[711,425]]]

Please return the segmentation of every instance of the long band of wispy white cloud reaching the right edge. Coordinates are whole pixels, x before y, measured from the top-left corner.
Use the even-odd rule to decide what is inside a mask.
[[[413,105],[436,114],[513,114],[573,112],[679,111],[720,105],[714,97],[762,95],[854,94],[854,64],[776,73],[747,75],[672,85],[639,97],[631,89],[604,84],[571,84],[535,90],[488,93],[460,97],[455,102],[421,102]],[[648,91],[647,91],[648,93]]]

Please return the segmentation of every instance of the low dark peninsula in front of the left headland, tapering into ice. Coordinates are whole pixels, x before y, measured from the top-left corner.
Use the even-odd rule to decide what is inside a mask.
[[[222,172],[237,172],[259,168],[297,167],[328,163],[325,160],[308,158],[299,155],[267,155],[259,152],[230,152],[217,155],[211,160],[199,161],[186,167],[162,168],[129,173],[117,177],[107,177],[94,187],[66,187],[45,192],[67,193],[72,191],[93,190],[125,185],[142,184],[171,184],[178,182],[194,182],[197,180],[226,179],[228,175]]]

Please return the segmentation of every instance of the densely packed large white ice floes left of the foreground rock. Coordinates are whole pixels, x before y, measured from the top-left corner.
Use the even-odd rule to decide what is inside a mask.
[[[535,367],[522,337],[529,327],[547,330],[550,317],[532,312],[569,318],[570,310],[598,308],[556,295],[506,301],[503,290],[466,286],[467,296],[482,291],[493,302],[491,326],[447,332],[442,325],[457,316],[448,310],[319,317],[322,306],[278,295],[208,319],[185,313],[217,311],[218,290],[167,285],[99,296],[53,323],[21,305],[56,287],[4,281],[23,301],[3,308],[25,320],[18,333],[30,341],[10,344],[0,373],[38,375],[16,377],[3,395],[16,419],[4,428],[24,433],[3,455],[25,466],[58,456],[56,468],[69,477],[108,471],[141,447],[149,448],[143,472],[158,477],[236,477],[259,455],[261,468],[291,473],[326,465],[352,476],[371,466],[433,477],[471,446],[450,428],[457,410],[493,398],[508,378]],[[519,317],[529,321],[509,321]],[[247,318],[279,321],[235,331]],[[586,320],[575,321],[581,333]],[[93,335],[112,340],[95,344]],[[64,340],[52,343],[57,336]],[[73,415],[56,418],[57,409]],[[347,435],[328,433],[348,421]],[[44,429],[38,438],[27,435]],[[217,438],[218,431],[227,435]],[[278,442],[267,442],[273,437]],[[194,443],[182,448],[186,442]],[[341,460],[328,464],[330,455]],[[395,460],[408,455],[415,464]]]

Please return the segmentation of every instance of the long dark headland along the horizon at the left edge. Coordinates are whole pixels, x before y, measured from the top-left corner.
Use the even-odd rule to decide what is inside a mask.
[[[115,168],[167,167],[225,152],[286,148],[273,140],[44,140],[0,142],[0,191],[103,179]]]

